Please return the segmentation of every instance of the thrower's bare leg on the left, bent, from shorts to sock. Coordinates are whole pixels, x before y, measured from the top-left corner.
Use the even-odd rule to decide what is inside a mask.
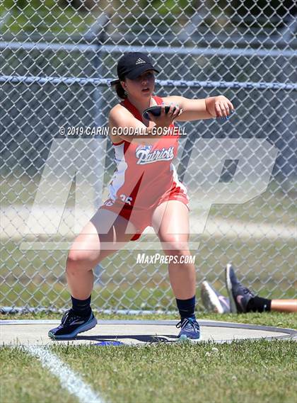
[[[76,237],[66,262],[67,283],[72,297],[78,300],[86,300],[92,293],[93,268],[133,237],[133,234],[125,234],[127,220],[114,212],[98,210],[96,222],[96,226],[88,222]],[[129,226],[136,232],[131,222]],[[107,233],[106,229],[109,229]],[[105,249],[105,243],[109,243],[112,249]]]

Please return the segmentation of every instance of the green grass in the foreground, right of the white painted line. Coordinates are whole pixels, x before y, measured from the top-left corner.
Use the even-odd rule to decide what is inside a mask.
[[[84,373],[93,368],[86,380],[115,403],[293,402],[296,343],[241,342],[219,346],[217,353],[212,348],[212,344],[103,351],[86,347],[80,355],[69,348],[66,362]],[[56,351],[65,358],[65,350]]]

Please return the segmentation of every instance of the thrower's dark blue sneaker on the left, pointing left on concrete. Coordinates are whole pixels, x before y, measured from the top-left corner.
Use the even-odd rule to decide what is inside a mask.
[[[95,327],[97,319],[93,312],[88,317],[81,317],[74,313],[74,310],[68,310],[64,313],[61,324],[48,332],[48,336],[54,340],[72,339],[78,333],[87,331]]]

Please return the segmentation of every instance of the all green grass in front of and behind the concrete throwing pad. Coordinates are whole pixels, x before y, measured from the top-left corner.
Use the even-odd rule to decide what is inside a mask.
[[[12,315],[6,319],[53,319],[57,314]],[[60,316],[59,316],[60,317]],[[297,314],[199,315],[203,319],[293,327]],[[2,315],[1,319],[4,316]],[[101,319],[134,319],[100,315]],[[173,319],[143,315],[137,319]],[[52,351],[98,392],[105,402],[293,403],[296,397],[295,341],[236,341],[157,344],[142,347],[53,346]],[[0,348],[1,401],[77,402],[39,361],[21,348]],[[20,379],[22,380],[20,382]]]

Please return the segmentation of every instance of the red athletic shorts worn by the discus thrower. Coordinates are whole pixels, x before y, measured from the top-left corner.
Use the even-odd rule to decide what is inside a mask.
[[[187,208],[189,208],[189,198],[187,197],[187,193],[183,191],[180,187],[174,186],[166,191],[161,198],[157,200],[157,202],[149,209],[145,208],[131,208],[129,205],[125,205],[120,202],[113,202],[112,199],[107,199],[103,205],[100,206],[100,209],[110,210],[115,212],[118,215],[124,217],[127,221],[132,222],[134,227],[136,228],[136,234],[132,237],[132,241],[136,241],[141,237],[141,234],[144,232],[146,227],[151,227],[151,217],[153,212],[162,203],[169,200],[180,200],[184,203]]]

